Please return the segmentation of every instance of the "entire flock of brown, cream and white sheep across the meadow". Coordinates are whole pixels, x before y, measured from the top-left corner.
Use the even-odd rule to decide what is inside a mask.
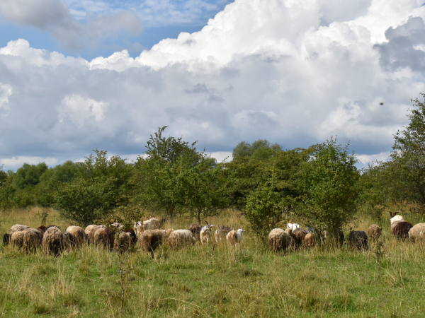
[[[425,223],[412,225],[403,219],[397,213],[390,212],[390,223],[392,234],[397,239],[409,238],[413,241],[425,240]],[[211,240],[211,230],[215,225],[206,222],[201,227],[197,223],[189,226],[188,230],[174,230],[172,228],[162,230],[165,219],[158,222],[157,218],[135,222],[134,228],[123,230],[123,225],[114,223],[111,228],[105,225],[89,225],[84,230],[79,226],[69,226],[65,232],[62,232],[56,225],[40,226],[39,228],[30,228],[26,225],[13,225],[10,234],[3,237],[4,244],[11,244],[12,247],[23,248],[23,251],[35,252],[42,247],[45,254],[55,254],[58,256],[67,249],[75,249],[82,245],[93,244],[96,247],[106,247],[110,251],[113,249],[125,250],[130,246],[137,245],[145,252],[150,252],[154,257],[154,251],[157,247],[168,242],[171,249],[180,249],[188,245],[194,245],[196,241],[201,244],[208,244]],[[118,239],[115,232],[119,232]],[[217,226],[215,231],[215,242],[227,241],[229,247],[235,247],[242,242],[242,228],[233,230],[226,225]],[[378,240],[382,229],[378,225],[370,225],[368,235],[363,231],[353,231],[348,235],[347,244],[351,249],[368,249],[369,238],[373,242]],[[326,238],[326,231],[322,233]],[[338,232],[340,245],[344,242],[344,233]],[[276,253],[285,252],[286,249],[299,249],[302,245],[307,248],[314,247],[317,242],[317,233],[307,228],[304,230],[299,224],[288,223],[285,230],[275,228],[268,234],[268,244]]]

